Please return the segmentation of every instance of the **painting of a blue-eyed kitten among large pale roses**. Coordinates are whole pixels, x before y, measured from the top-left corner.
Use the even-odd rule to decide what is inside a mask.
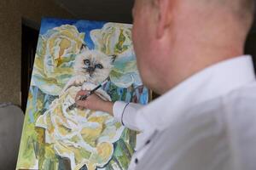
[[[102,111],[68,110],[81,90],[145,105],[131,25],[42,20],[16,169],[123,170],[137,132]]]

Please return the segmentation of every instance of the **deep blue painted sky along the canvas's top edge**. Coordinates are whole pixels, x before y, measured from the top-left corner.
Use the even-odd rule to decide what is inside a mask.
[[[90,31],[94,29],[101,29],[106,22],[90,21],[90,20],[61,20],[55,18],[44,18],[41,22],[40,34],[44,35],[49,29],[61,25],[76,26],[79,32],[85,32],[84,42],[90,49],[94,48],[94,43],[90,39]]]

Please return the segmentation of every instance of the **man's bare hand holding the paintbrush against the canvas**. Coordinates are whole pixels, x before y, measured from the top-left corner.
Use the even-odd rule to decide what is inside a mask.
[[[96,94],[91,94],[85,100],[79,100],[80,96],[88,94],[89,91],[81,90],[76,96],[76,105],[84,109],[90,109],[93,111],[105,111],[113,116],[113,103],[101,99]]]

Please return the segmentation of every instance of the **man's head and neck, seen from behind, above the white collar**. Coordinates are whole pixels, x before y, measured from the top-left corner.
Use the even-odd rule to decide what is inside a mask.
[[[141,77],[164,94],[207,66],[243,54],[254,0],[136,0],[133,14]]]

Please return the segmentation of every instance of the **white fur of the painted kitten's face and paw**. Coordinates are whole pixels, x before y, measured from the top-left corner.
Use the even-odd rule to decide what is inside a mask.
[[[84,59],[89,59],[92,66],[101,64],[103,68],[96,68],[95,71],[90,74],[85,68],[86,66],[84,65]],[[72,86],[82,86],[83,89],[84,82],[91,82],[95,85],[103,82],[109,76],[109,73],[113,67],[112,63],[112,57],[109,57],[108,55],[97,50],[83,48],[80,54],[76,56],[75,63],[73,65],[73,77],[70,78],[65,87],[62,89],[61,94],[64,94],[67,91],[67,88]]]

